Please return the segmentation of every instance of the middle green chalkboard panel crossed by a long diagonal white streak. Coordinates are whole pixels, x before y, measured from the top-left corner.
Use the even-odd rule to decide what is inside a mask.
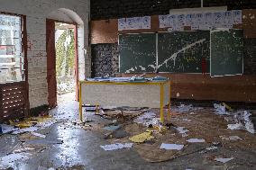
[[[210,71],[210,31],[175,31],[158,34],[159,72]]]

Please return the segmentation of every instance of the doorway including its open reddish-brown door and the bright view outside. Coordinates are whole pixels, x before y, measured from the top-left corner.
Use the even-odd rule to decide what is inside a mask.
[[[47,79],[50,108],[78,98],[78,26],[47,20]]]

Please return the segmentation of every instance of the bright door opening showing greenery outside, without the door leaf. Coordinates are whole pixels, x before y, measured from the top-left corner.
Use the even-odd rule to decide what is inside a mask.
[[[76,25],[55,22],[57,103],[76,100]]]

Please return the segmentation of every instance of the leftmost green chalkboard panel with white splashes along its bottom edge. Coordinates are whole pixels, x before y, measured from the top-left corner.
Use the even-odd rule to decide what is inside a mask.
[[[142,73],[155,71],[156,34],[119,35],[120,72]]]

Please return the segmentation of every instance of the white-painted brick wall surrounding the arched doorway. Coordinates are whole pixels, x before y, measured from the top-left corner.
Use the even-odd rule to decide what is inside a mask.
[[[69,13],[59,10],[63,8],[69,9]],[[90,76],[90,58],[85,53],[88,49],[89,0],[1,0],[0,12],[27,16],[28,45],[31,44],[28,47],[31,108],[48,104],[46,18],[78,22],[79,78]]]

